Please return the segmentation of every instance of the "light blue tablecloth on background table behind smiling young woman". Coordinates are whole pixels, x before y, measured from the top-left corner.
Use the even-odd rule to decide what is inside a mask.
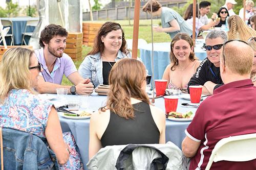
[[[206,51],[201,47],[203,46],[204,39],[197,39],[195,46],[195,54],[199,60],[207,57]],[[170,63],[170,42],[157,42],[154,43],[154,80],[162,79],[163,72],[166,66]],[[144,45],[140,48],[140,58],[146,69],[148,75],[152,75],[152,43]],[[151,83],[153,79],[151,80]]]

